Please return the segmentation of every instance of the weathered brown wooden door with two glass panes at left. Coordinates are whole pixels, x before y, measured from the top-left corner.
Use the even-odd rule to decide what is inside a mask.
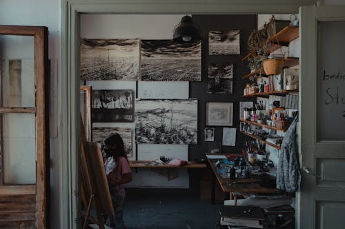
[[[48,29],[0,25],[0,228],[46,228]]]

